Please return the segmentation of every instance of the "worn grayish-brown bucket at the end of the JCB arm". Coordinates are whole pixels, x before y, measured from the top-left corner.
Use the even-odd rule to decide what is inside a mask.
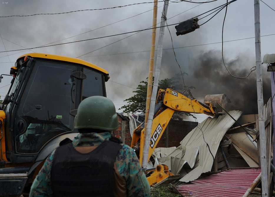
[[[226,109],[227,103],[230,103],[228,96],[226,94],[209,94],[204,98],[204,103],[211,102],[215,113],[225,113],[223,109]]]

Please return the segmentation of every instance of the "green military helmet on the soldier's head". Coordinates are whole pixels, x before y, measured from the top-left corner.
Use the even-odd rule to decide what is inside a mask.
[[[104,96],[91,96],[84,99],[78,106],[74,128],[116,130],[118,118],[114,103]]]

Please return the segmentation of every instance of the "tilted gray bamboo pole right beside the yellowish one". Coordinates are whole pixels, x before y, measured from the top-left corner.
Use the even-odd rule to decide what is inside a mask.
[[[160,22],[161,27],[160,27],[160,34],[158,37],[158,54],[157,54],[157,61],[156,61],[156,67],[155,67],[155,80],[154,80],[153,91],[152,91],[152,96],[151,96],[151,103],[150,103],[148,122],[147,122],[147,127],[146,127],[146,136],[145,136],[144,149],[143,149],[143,158],[144,159],[142,160],[142,167],[145,167],[145,168],[147,167],[147,163],[148,163],[151,130],[152,130],[153,117],[154,117],[156,96],[157,96],[157,92],[158,92],[158,82],[159,82],[159,76],[160,76],[160,63],[161,63],[161,59],[162,59],[162,49],[163,49],[162,43],[163,43],[163,35],[164,35],[164,28],[165,28],[168,4],[169,4],[169,0],[165,0],[164,6],[163,6],[163,11],[162,11],[162,16],[161,16],[161,22]]]

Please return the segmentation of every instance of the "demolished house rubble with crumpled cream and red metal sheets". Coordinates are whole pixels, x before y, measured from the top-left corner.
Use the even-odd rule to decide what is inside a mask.
[[[271,99],[265,105],[265,112],[266,149],[272,167]],[[260,187],[261,180],[258,116],[241,114],[233,110],[218,118],[206,118],[180,141],[179,146],[155,148],[152,166],[165,164],[173,174],[180,175],[179,179],[169,182],[173,181],[175,189],[183,196],[236,197],[260,191],[256,188]],[[134,128],[134,118],[130,119],[132,123],[129,124]],[[272,185],[271,180],[272,175],[269,185]],[[167,183],[163,180],[155,186]]]

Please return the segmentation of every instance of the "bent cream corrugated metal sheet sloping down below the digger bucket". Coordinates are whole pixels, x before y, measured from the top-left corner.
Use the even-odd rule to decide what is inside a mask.
[[[241,116],[241,113],[242,112],[238,110],[229,112],[235,120]],[[220,141],[234,123],[235,121],[228,114],[221,115],[218,118],[209,117],[190,131],[180,142],[181,145],[167,155],[167,157],[171,156],[171,158],[180,158],[180,162],[182,162],[182,160],[186,161],[184,162],[184,168],[189,168],[186,170],[189,171],[189,173],[184,174],[185,176],[183,176],[180,181],[193,181],[202,173],[211,171],[214,160],[213,157],[216,155]],[[196,163],[197,156],[199,162]],[[177,165],[181,166],[178,163]],[[173,166],[171,168],[173,168]],[[176,171],[179,172],[180,169]]]

